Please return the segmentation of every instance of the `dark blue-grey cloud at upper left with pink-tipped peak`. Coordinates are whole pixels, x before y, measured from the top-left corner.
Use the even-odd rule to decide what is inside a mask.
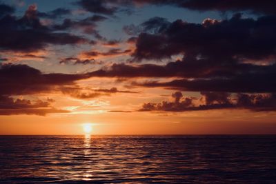
[[[37,7],[28,7],[23,17],[17,19],[6,15],[0,19],[0,49],[13,51],[43,50],[48,44],[75,45],[88,40],[66,32],[53,32],[41,25],[37,17]]]

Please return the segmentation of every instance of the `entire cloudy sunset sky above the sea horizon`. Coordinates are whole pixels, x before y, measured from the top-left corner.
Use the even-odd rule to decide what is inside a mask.
[[[0,1],[0,134],[276,134],[276,2]]]

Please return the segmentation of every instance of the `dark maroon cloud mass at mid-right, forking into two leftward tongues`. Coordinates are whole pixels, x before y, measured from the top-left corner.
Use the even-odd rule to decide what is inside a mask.
[[[193,61],[193,62],[192,62]],[[217,63],[210,60],[174,61],[166,65],[113,64],[90,72],[90,76],[103,77],[178,77],[167,82],[132,83],[144,87],[179,88],[188,91],[221,92],[275,92],[276,65],[245,63]]]

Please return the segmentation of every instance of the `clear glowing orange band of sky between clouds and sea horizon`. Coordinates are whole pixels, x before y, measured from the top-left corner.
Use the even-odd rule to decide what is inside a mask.
[[[185,114],[104,112],[47,116],[17,115],[0,116],[0,134],[90,134],[83,130],[83,125],[86,123],[91,124],[93,135],[275,134],[275,119],[275,113],[258,112],[255,114],[255,112],[242,110],[210,110]]]

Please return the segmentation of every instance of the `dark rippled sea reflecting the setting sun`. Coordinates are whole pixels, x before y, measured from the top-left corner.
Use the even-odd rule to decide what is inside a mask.
[[[276,136],[0,136],[0,183],[276,183]]]

